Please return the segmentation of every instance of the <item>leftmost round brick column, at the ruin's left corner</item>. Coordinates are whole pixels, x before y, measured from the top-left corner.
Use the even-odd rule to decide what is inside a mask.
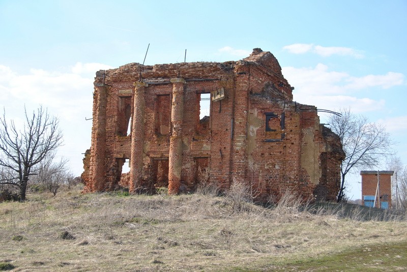
[[[105,187],[105,152],[106,152],[106,106],[107,87],[95,83],[96,111],[93,116],[92,149],[91,149],[91,192],[103,191]]]

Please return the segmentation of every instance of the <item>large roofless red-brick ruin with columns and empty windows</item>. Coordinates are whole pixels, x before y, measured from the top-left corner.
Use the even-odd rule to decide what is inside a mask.
[[[222,63],[130,63],[97,72],[94,85],[85,192],[192,192],[206,169],[206,182],[221,190],[238,180],[260,198],[287,188],[336,198],[340,140],[316,107],[293,101],[270,52]],[[205,94],[209,114],[200,118]]]

